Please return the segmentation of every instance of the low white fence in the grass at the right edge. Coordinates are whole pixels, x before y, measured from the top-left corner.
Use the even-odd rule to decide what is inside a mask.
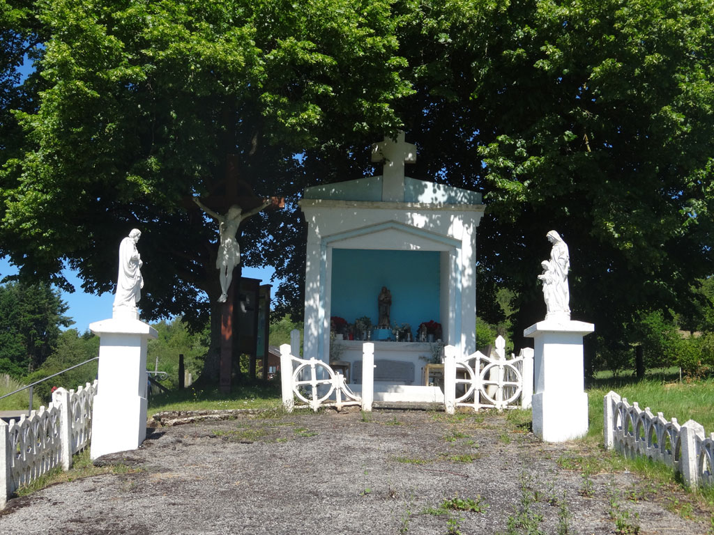
[[[714,433],[708,437],[694,420],[681,425],[676,418],[657,416],[627,398],[608,392],[604,399],[604,442],[625,457],[648,457],[668,464],[690,486],[714,485]]]

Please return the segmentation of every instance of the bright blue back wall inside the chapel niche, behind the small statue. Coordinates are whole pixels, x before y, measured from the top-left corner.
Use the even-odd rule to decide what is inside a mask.
[[[331,316],[353,323],[378,320],[377,296],[383,286],[392,294],[392,324],[408,323],[416,333],[421,322],[439,320],[438,251],[333,249]]]

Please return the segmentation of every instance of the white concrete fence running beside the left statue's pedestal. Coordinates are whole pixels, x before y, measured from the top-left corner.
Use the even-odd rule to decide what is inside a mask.
[[[72,455],[89,446],[97,384],[87,383],[76,392],[56,389],[48,407],[9,424],[0,420],[0,509],[19,486],[57,466],[69,470]]]

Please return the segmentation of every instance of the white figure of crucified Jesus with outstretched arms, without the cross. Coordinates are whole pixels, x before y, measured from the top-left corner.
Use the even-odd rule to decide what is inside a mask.
[[[241,248],[238,247],[238,240],[236,240],[238,227],[241,226],[241,221],[251,217],[251,215],[256,215],[256,213],[271,204],[271,201],[265,200],[261,205],[246,213],[243,213],[240,206],[234,204],[231,208],[228,208],[226,215],[214,212],[211,208],[203,205],[201,200],[196,197],[193,198],[193,202],[198,205],[198,208],[210,215],[211,218],[218,221],[218,233],[221,237],[221,243],[218,245],[218,257],[216,258],[216,268],[220,270],[221,274],[221,297],[218,297],[218,302],[226,302],[228,288],[231,287],[231,281],[233,280],[233,268],[241,263]]]

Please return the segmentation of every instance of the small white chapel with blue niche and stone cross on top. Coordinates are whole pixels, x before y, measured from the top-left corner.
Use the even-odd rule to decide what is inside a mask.
[[[416,147],[403,132],[374,145],[372,160],[383,161],[381,176],[306,188],[299,203],[308,223],[303,358],[347,362],[356,391],[363,341],[331,342],[331,317],[348,323],[368,317],[377,325],[385,287],[391,324],[409,325],[416,335],[422,323],[438,323],[443,344],[455,346],[458,355],[476,351],[481,194],[406,177]],[[409,390],[414,400],[438,398],[440,392],[427,391],[423,373],[433,342],[371,341],[375,399],[399,392],[398,400],[408,401]]]

